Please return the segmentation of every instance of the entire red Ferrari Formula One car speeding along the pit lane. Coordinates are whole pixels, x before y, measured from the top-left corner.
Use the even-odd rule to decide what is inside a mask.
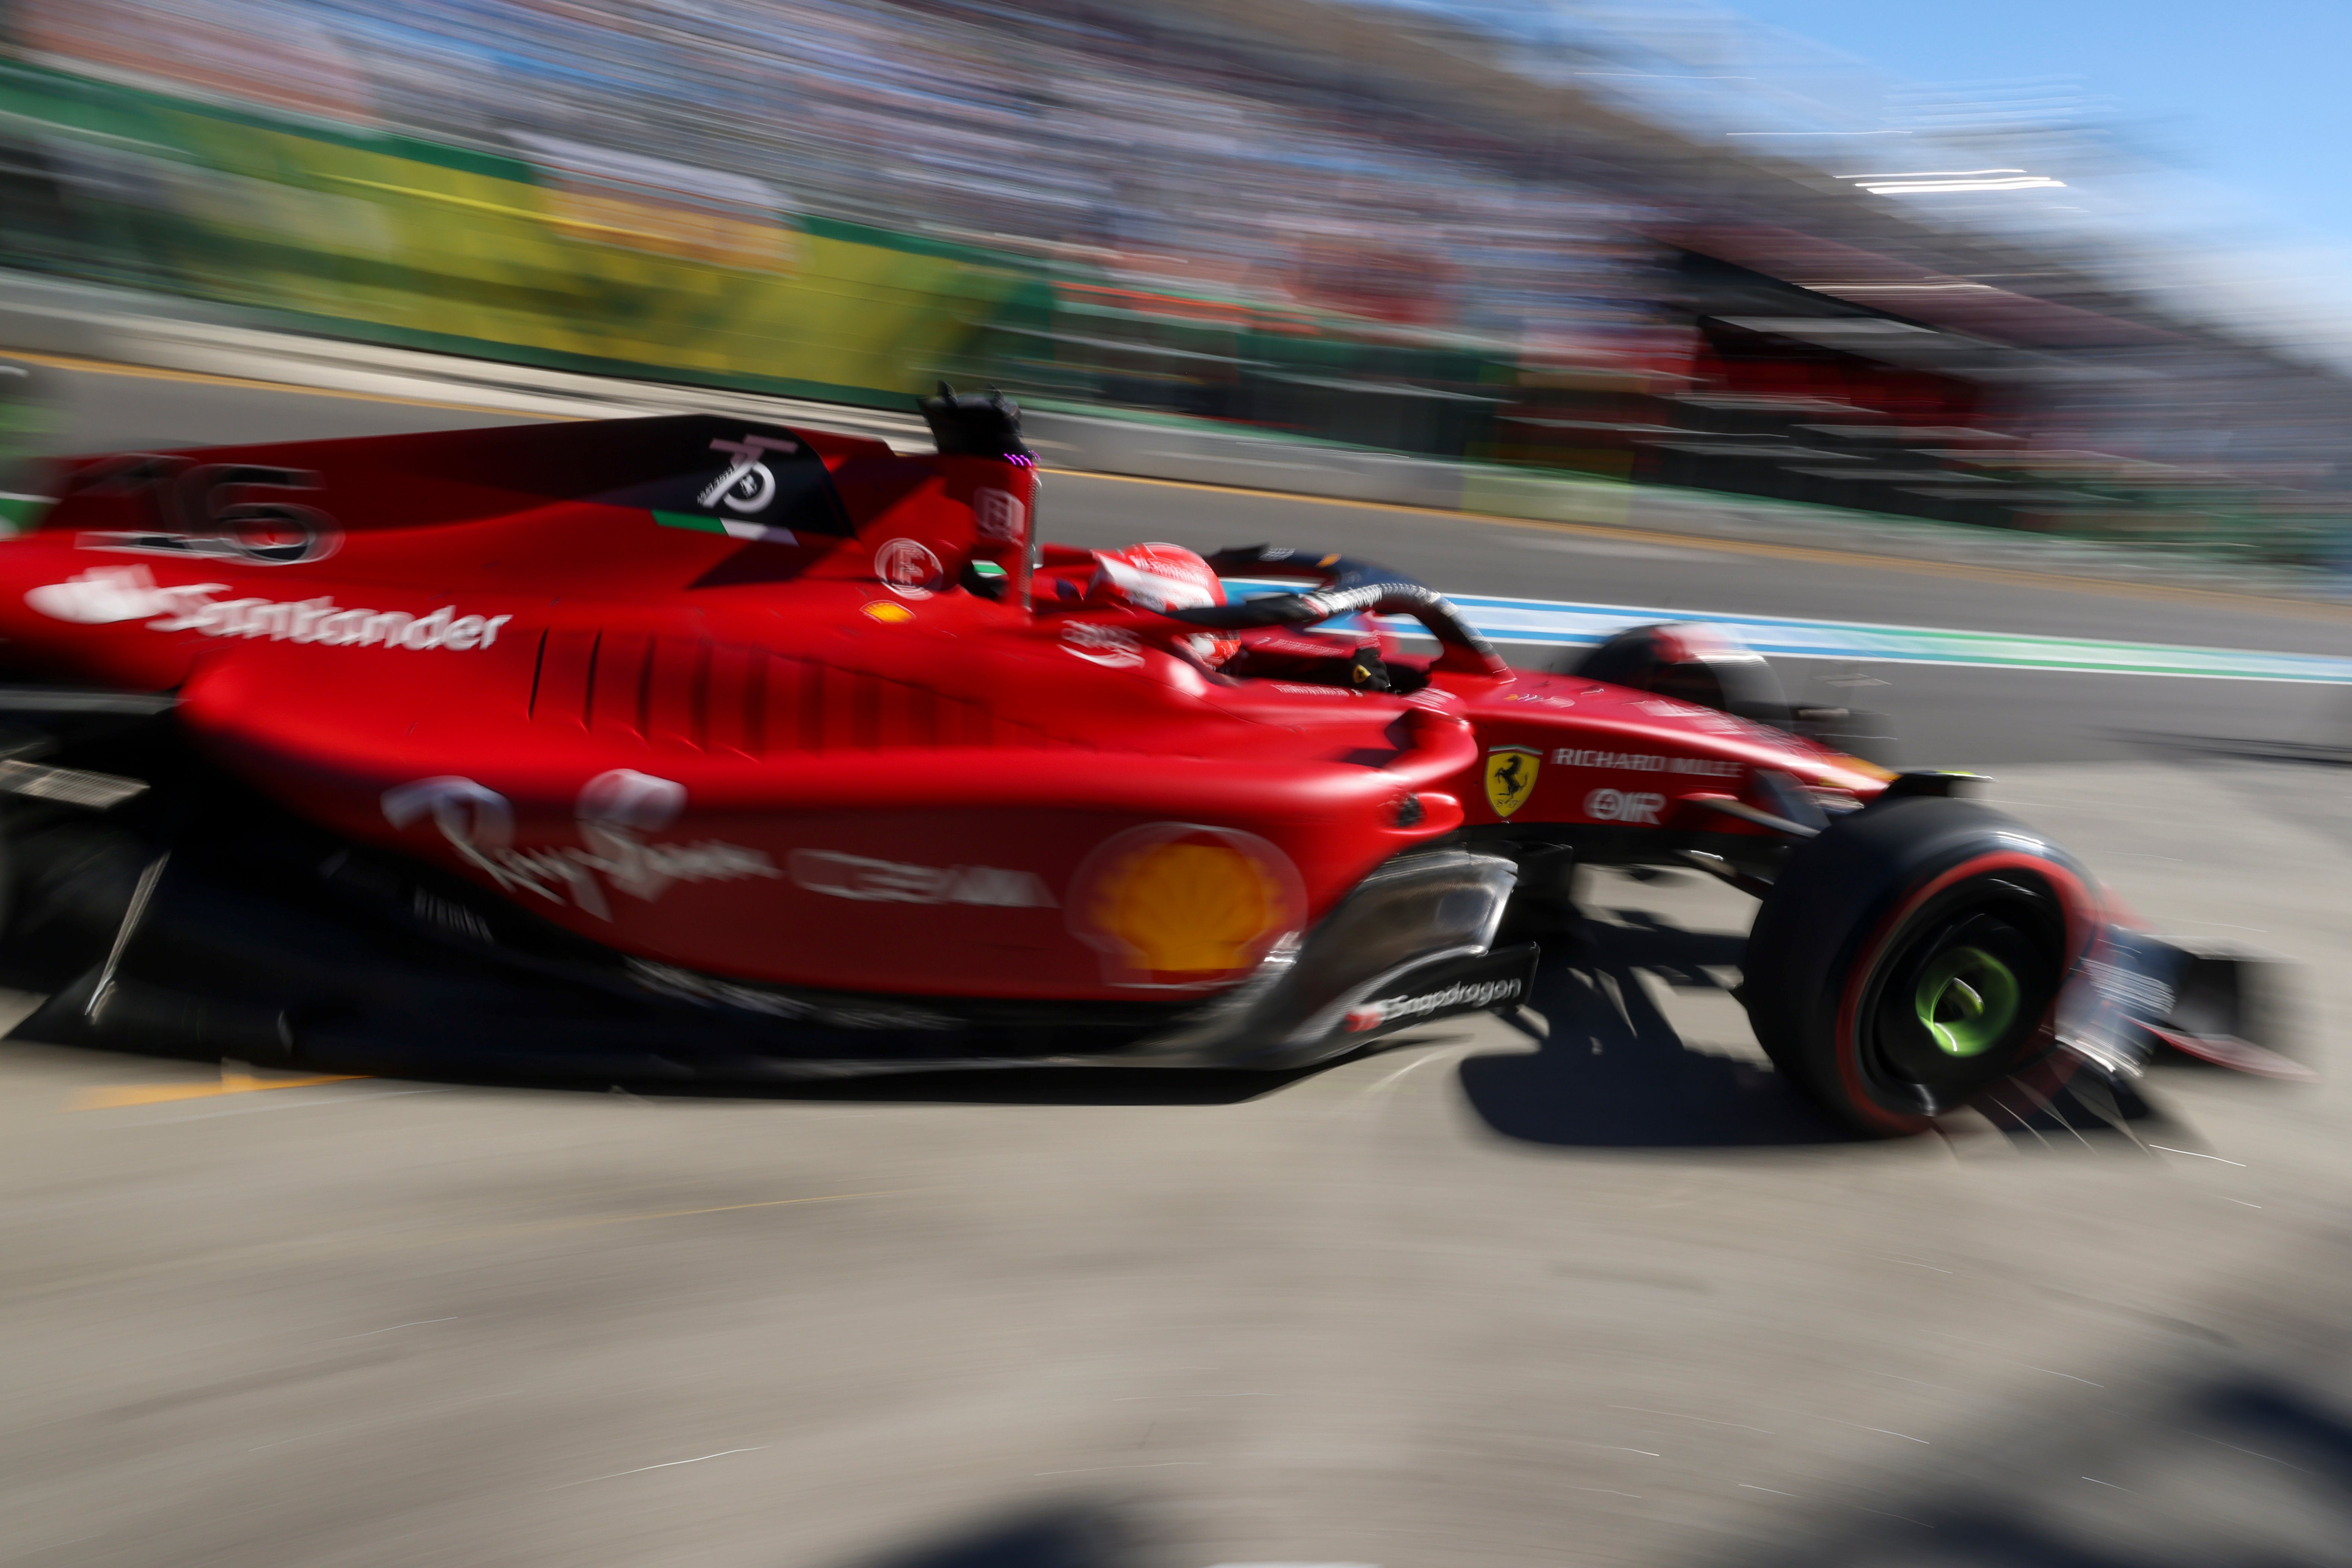
[[[924,411],[938,456],[684,416],[68,463],[0,545],[26,1032],[1301,1067],[1524,1018],[1578,860],[1757,893],[1757,1034],[1872,1131],[2227,1032],[2063,851],[1759,722],[1698,632],[1512,670],[1338,555],[1042,545],[1014,409]]]

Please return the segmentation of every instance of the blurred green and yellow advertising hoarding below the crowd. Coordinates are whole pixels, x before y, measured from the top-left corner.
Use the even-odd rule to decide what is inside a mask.
[[[983,324],[1047,308],[1018,261],[595,148],[527,160],[24,66],[0,136],[0,263],[336,336],[901,404]]]

